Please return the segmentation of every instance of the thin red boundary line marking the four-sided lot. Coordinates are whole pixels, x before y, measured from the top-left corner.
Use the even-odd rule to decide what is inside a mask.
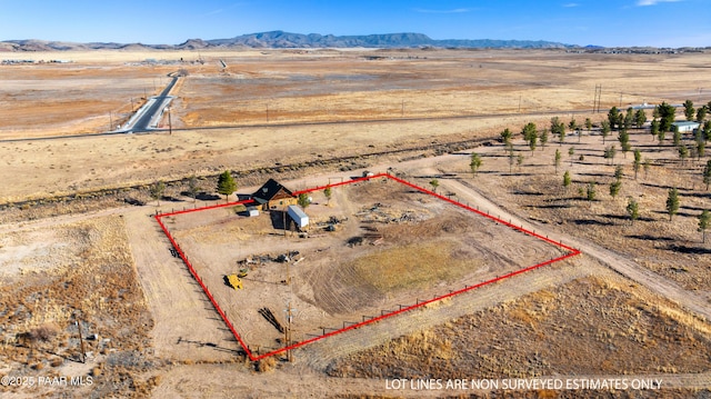
[[[358,179],[353,179],[353,180],[341,181],[341,182],[333,183],[333,184],[328,184],[328,186],[322,186],[322,187],[316,187],[316,188],[311,188],[311,189],[307,189],[307,190],[302,190],[302,191],[297,191],[297,192],[294,192],[294,194],[297,194],[297,196],[298,196],[298,194],[300,194],[300,193],[309,193],[309,192],[314,192],[314,191],[321,191],[321,190],[323,190],[323,189],[326,189],[326,188],[328,188],[328,187],[339,187],[339,186],[352,184],[352,183],[357,183],[357,182],[361,182],[361,181],[368,181],[368,180],[371,180],[371,179],[378,179],[378,178],[388,178],[388,179],[392,179],[392,180],[394,180],[394,181],[397,181],[397,182],[399,182],[399,183],[401,183],[401,184],[404,184],[404,186],[408,186],[408,187],[410,187],[410,188],[413,188],[413,189],[415,189],[415,190],[418,190],[418,191],[420,191],[420,192],[422,192],[422,193],[430,194],[430,196],[432,196],[432,197],[439,198],[439,199],[441,199],[441,200],[443,200],[443,201],[447,201],[447,202],[449,202],[449,203],[452,203],[452,205],[454,205],[454,206],[457,206],[457,207],[460,207],[460,208],[465,209],[465,210],[468,210],[468,211],[474,212],[474,213],[477,213],[477,215],[479,215],[479,216],[482,216],[482,217],[484,217],[484,218],[491,219],[491,220],[493,220],[493,221],[495,221],[495,222],[498,222],[498,223],[504,225],[504,226],[507,226],[507,227],[509,227],[509,228],[512,228],[512,229],[514,229],[514,230],[521,231],[521,232],[523,232],[523,233],[525,233],[525,235],[529,235],[529,236],[535,237],[535,238],[538,238],[538,239],[540,239],[540,240],[543,240],[543,241],[549,242],[549,243],[552,243],[552,245],[554,245],[554,246],[557,246],[557,247],[563,248],[563,249],[565,249],[565,250],[568,250],[568,251],[570,251],[570,252],[569,252],[569,253],[565,253],[565,255],[563,255],[563,256],[561,256],[561,257],[559,257],[559,258],[555,258],[555,259],[547,260],[547,261],[544,261],[544,262],[541,262],[541,263],[538,263],[538,265],[534,265],[534,266],[531,266],[531,267],[528,267],[528,268],[523,268],[523,269],[520,269],[520,270],[515,270],[515,271],[512,271],[512,272],[510,272],[510,273],[507,273],[507,275],[503,275],[503,276],[497,277],[497,278],[494,278],[494,279],[487,280],[487,281],[480,282],[480,283],[478,283],[478,285],[471,286],[471,287],[465,287],[465,288],[460,289],[460,290],[458,290],[458,291],[452,291],[452,292],[450,292],[450,293],[448,293],[448,295],[444,295],[444,296],[441,296],[441,297],[435,297],[435,298],[433,298],[433,299],[430,299],[430,300],[427,300],[427,301],[423,301],[423,302],[418,302],[418,303],[415,303],[415,305],[413,305],[413,306],[410,306],[410,307],[407,307],[407,308],[402,308],[402,309],[399,309],[399,310],[395,310],[395,311],[392,311],[392,312],[388,312],[388,313],[381,315],[381,316],[379,316],[379,317],[374,317],[374,318],[372,318],[372,319],[364,320],[364,321],[362,321],[362,322],[358,322],[358,323],[350,325],[350,326],[344,327],[344,328],[339,329],[339,330],[334,330],[334,331],[331,331],[331,332],[328,332],[328,333],[324,333],[324,335],[321,335],[321,336],[318,336],[318,337],[313,337],[313,338],[308,339],[308,340],[304,340],[304,341],[297,342],[297,343],[291,345],[291,346],[289,346],[289,347],[284,347],[284,348],[281,348],[281,349],[278,349],[278,350],[274,350],[274,351],[271,351],[271,352],[268,352],[268,353],[261,355],[261,356],[254,356],[254,355],[249,350],[249,347],[244,343],[244,341],[242,340],[242,337],[240,337],[240,335],[237,332],[237,330],[234,329],[234,326],[232,326],[232,323],[231,323],[231,322],[230,322],[230,320],[228,319],[228,317],[227,317],[227,315],[224,313],[224,311],[222,311],[222,309],[221,309],[221,308],[220,308],[220,306],[218,305],[218,302],[217,302],[217,300],[214,299],[214,297],[212,296],[212,293],[210,293],[210,291],[208,290],[208,287],[206,287],[206,285],[202,282],[202,279],[200,279],[200,276],[199,276],[199,275],[198,275],[198,272],[194,270],[194,268],[192,267],[192,265],[190,263],[190,261],[189,261],[189,260],[188,260],[188,258],[186,257],[184,252],[180,249],[180,247],[178,246],[178,242],[176,242],[176,240],[173,239],[172,235],[170,233],[170,231],[168,230],[168,228],[166,227],[166,225],[163,225],[163,222],[162,222],[162,220],[161,220],[161,219],[162,219],[162,218],[164,218],[164,217],[171,217],[171,216],[177,216],[177,215],[184,215],[184,213],[191,213],[191,212],[198,212],[198,211],[203,211],[203,210],[209,210],[209,209],[224,208],[224,207],[231,207],[231,206],[238,206],[238,205],[247,205],[247,203],[251,203],[251,202],[253,202],[253,200],[244,200],[244,201],[238,201],[238,202],[230,202],[230,203],[223,203],[223,205],[211,206],[211,207],[204,207],[204,208],[197,208],[197,209],[182,210],[182,211],[177,211],[177,212],[171,212],[171,213],[161,213],[161,215],[157,215],[157,216],[156,216],[156,220],[158,221],[158,223],[160,225],[161,229],[163,230],[163,232],[166,233],[166,236],[167,236],[167,237],[168,237],[168,239],[170,240],[171,245],[176,248],[176,250],[177,250],[177,251],[178,251],[178,253],[180,255],[180,258],[182,259],[182,261],[183,261],[183,262],[186,263],[186,266],[188,267],[188,270],[190,271],[190,273],[192,275],[192,277],[196,279],[196,281],[198,281],[198,283],[200,285],[200,287],[202,288],[202,290],[204,291],[204,293],[206,293],[206,295],[208,296],[208,298],[210,299],[210,302],[212,303],[212,306],[214,307],[214,309],[218,311],[218,313],[220,315],[220,317],[222,318],[222,320],[224,320],[224,323],[227,325],[227,327],[230,329],[230,331],[232,332],[232,335],[234,336],[234,338],[238,340],[238,342],[240,342],[240,345],[242,346],[242,349],[244,350],[244,352],[247,353],[247,356],[249,357],[249,359],[250,359],[250,360],[252,360],[252,361],[257,361],[257,360],[260,360],[260,359],[263,359],[263,358],[270,357],[270,356],[274,356],[274,355],[283,353],[283,352],[288,351],[288,350],[292,350],[292,349],[296,349],[296,348],[299,348],[299,347],[302,347],[302,346],[306,346],[306,345],[309,345],[309,343],[312,343],[312,342],[319,341],[319,340],[321,340],[321,339],[324,339],[324,338],[328,338],[328,337],[332,337],[332,336],[339,335],[339,333],[341,333],[341,332],[346,332],[346,331],[349,331],[349,330],[354,330],[354,329],[357,329],[357,328],[360,328],[360,327],[363,327],[363,326],[367,326],[367,325],[370,325],[370,323],[374,323],[374,322],[378,322],[378,321],[384,320],[384,319],[390,318],[390,317],[393,317],[393,316],[395,316],[395,315],[400,315],[400,313],[403,313],[403,312],[407,312],[407,311],[410,311],[410,310],[413,310],[413,309],[422,308],[422,307],[424,307],[424,306],[427,306],[427,305],[429,305],[429,303],[433,303],[433,302],[437,302],[437,301],[441,301],[441,300],[447,299],[447,298],[452,298],[452,297],[454,297],[454,296],[458,296],[458,295],[461,295],[461,293],[464,293],[464,292],[468,292],[468,291],[474,290],[474,289],[477,289],[477,288],[481,288],[481,287],[484,287],[484,286],[491,285],[491,283],[494,283],[494,282],[499,282],[499,281],[505,280],[505,279],[508,279],[508,278],[511,278],[511,277],[513,277],[513,276],[518,276],[518,275],[524,273],[524,272],[527,272],[527,271],[535,270],[535,269],[538,269],[538,268],[541,268],[541,267],[544,267],[544,266],[548,266],[548,265],[552,265],[552,263],[555,263],[555,262],[559,262],[559,261],[565,260],[565,259],[568,259],[568,258],[572,258],[572,257],[578,256],[578,255],[580,255],[580,253],[581,253],[578,249],[574,249],[574,248],[569,247],[569,246],[564,246],[562,242],[551,240],[551,239],[549,239],[548,237],[543,237],[543,236],[538,235],[538,233],[535,233],[535,232],[533,232],[533,231],[527,230],[527,229],[524,229],[524,228],[523,228],[523,227],[521,227],[521,226],[515,226],[515,225],[510,223],[510,222],[508,222],[508,221],[505,221],[505,220],[501,220],[501,219],[499,219],[499,218],[497,218],[497,217],[493,217],[493,216],[491,216],[491,215],[489,215],[489,213],[484,213],[484,212],[482,212],[482,211],[480,211],[480,210],[478,210],[478,209],[471,208],[471,207],[465,206],[465,205],[463,205],[463,203],[461,203],[461,202],[453,201],[453,200],[451,200],[451,199],[449,199],[449,198],[447,198],[447,197],[443,197],[443,196],[441,196],[441,194],[438,194],[438,193],[435,193],[435,192],[432,192],[432,191],[427,190],[427,189],[424,189],[424,188],[421,188],[421,187],[419,187],[419,186],[412,184],[412,183],[410,183],[409,181],[405,181],[405,180],[399,179],[399,178],[397,178],[397,177],[394,177],[394,176],[391,176],[391,174],[388,174],[388,173],[380,173],[380,174],[374,174],[374,176],[371,176],[371,177],[358,178]]]

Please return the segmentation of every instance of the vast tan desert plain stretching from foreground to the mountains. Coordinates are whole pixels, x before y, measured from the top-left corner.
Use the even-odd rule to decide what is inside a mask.
[[[0,397],[711,397],[708,50],[0,58]]]

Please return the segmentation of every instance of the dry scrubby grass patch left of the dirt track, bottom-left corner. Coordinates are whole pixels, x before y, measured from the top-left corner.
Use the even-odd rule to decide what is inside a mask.
[[[113,216],[0,235],[3,375],[92,379],[72,395],[150,390],[144,373],[161,362],[150,357],[153,321],[124,228]],[[76,320],[84,338],[97,337],[84,340],[86,363]],[[34,397],[54,391],[11,388]]]

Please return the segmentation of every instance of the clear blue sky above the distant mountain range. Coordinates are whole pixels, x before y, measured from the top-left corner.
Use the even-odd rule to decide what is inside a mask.
[[[0,0],[0,40],[178,44],[284,30],[711,46],[711,0]]]

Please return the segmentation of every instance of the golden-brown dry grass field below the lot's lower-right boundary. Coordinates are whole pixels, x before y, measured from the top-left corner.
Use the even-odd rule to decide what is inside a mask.
[[[464,332],[465,331],[465,332]],[[590,277],[339,360],[338,377],[478,378],[699,373],[711,329],[614,277]],[[630,356],[637,353],[637,356]]]

